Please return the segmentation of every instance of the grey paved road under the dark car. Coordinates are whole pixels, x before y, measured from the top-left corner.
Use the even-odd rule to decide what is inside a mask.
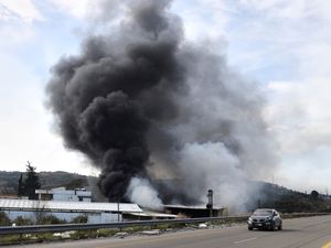
[[[329,246],[329,245],[330,246]],[[184,230],[159,236],[130,236],[11,248],[329,248],[331,216],[286,219],[284,230],[247,230],[246,225],[228,228]]]

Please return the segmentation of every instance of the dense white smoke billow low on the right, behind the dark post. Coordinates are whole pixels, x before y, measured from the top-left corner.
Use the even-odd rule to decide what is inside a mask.
[[[247,179],[238,158],[222,142],[186,143],[179,153],[185,192],[206,202],[207,190],[214,191],[214,205],[243,211],[247,202]],[[197,183],[199,182],[199,183]]]

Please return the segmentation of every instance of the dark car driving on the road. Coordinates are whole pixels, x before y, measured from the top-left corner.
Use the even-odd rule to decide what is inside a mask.
[[[253,228],[275,230],[282,229],[282,220],[277,211],[270,208],[256,209],[248,218],[248,230]]]

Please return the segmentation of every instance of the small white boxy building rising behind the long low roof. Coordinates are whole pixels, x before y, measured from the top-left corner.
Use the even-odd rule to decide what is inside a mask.
[[[56,187],[52,190],[35,190],[40,201],[57,202],[92,202],[92,192],[85,188],[66,190]]]

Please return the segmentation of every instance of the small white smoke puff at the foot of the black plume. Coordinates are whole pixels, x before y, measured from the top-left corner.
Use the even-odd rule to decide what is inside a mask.
[[[146,179],[132,177],[126,194],[131,202],[151,209],[162,209],[157,191]]]

